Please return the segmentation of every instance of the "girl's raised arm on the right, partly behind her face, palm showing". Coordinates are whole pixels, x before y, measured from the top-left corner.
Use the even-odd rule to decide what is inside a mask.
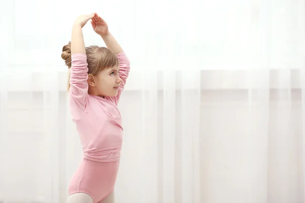
[[[120,45],[109,32],[106,21],[103,20],[97,13],[94,14],[95,16],[92,18],[91,22],[94,31],[102,37],[107,48],[113,51],[119,60],[118,74],[119,77],[122,79],[122,82],[120,83],[117,96],[109,97],[109,99],[111,99],[117,105],[120,94],[124,90],[126,80],[130,72],[130,61],[123,49],[120,47]]]

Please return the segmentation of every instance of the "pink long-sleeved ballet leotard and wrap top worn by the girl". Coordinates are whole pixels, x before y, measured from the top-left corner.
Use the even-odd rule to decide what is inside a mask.
[[[115,97],[88,94],[86,54],[72,54],[70,111],[82,144],[83,158],[69,184],[69,195],[89,194],[97,203],[114,189],[123,141],[118,100],[130,71],[125,52],[117,54],[120,83]]]

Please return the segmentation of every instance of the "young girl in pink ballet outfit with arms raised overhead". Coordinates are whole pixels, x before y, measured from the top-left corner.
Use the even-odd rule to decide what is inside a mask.
[[[90,19],[107,48],[85,47],[82,27]],[[70,71],[70,111],[83,150],[68,203],[113,203],[123,135],[117,104],[130,71],[129,59],[96,13],[75,20],[62,58]]]

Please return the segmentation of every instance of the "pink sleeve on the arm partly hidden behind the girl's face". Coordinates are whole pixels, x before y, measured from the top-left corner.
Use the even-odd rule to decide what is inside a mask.
[[[108,97],[109,100],[113,101],[115,105],[118,104],[119,97],[124,90],[126,80],[128,78],[129,72],[130,72],[130,61],[125,54],[125,52],[121,52],[119,54],[116,54],[118,60],[119,60],[119,72],[118,75],[122,79],[122,82],[120,83],[117,95],[115,97]]]

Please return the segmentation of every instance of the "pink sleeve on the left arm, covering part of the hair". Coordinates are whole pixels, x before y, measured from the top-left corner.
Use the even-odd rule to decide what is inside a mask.
[[[70,106],[82,111],[85,109],[88,97],[88,67],[87,56],[83,53],[72,54],[70,69]]]

